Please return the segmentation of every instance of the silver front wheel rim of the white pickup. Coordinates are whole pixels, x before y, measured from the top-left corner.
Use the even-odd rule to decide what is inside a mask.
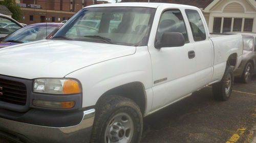
[[[105,143],[129,143],[132,140],[134,123],[127,113],[115,115],[105,130]]]

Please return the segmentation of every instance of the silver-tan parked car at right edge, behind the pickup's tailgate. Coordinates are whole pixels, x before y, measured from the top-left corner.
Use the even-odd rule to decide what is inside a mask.
[[[243,59],[234,76],[248,83],[251,81],[253,74],[256,73],[256,34],[238,33],[243,36],[244,53]]]

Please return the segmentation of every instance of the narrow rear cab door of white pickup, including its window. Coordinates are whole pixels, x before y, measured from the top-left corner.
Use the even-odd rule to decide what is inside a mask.
[[[193,39],[190,41],[195,47],[197,60],[197,73],[195,76],[198,85],[196,89],[199,89],[212,82],[214,49],[206,34],[208,31],[205,20],[202,18],[203,16],[197,10],[186,9],[185,12],[193,35]]]

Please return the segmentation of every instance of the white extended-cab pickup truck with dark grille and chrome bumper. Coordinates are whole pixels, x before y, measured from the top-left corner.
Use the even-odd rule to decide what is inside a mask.
[[[227,100],[242,52],[241,35],[210,38],[196,7],[83,8],[52,39],[0,49],[0,134],[139,142],[143,117],[206,85]]]

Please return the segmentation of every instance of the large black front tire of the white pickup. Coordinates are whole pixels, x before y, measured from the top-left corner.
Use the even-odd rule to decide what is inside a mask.
[[[113,132],[109,130],[109,129],[113,129],[117,123],[116,121],[114,121],[113,118],[115,118],[116,116],[119,116],[120,114],[121,116],[122,114],[124,114],[125,116],[126,115],[130,116],[131,118],[130,117],[129,118],[133,123],[132,127],[134,130],[129,131],[130,141],[128,142],[138,143],[141,139],[142,129],[143,129],[143,119],[142,119],[140,108],[131,99],[124,98],[121,96],[115,96],[115,95],[105,96],[99,101],[99,103],[97,103],[95,120],[94,120],[90,142],[91,143],[108,143],[106,140],[108,140],[110,136],[106,137],[106,134],[109,135],[110,132]],[[123,117],[121,117],[121,120],[122,118]],[[119,136],[119,132],[121,131],[119,130],[114,133]],[[124,132],[125,133],[122,133],[122,134],[125,134],[123,135],[123,138],[126,137],[126,132],[128,131],[126,130]]]

